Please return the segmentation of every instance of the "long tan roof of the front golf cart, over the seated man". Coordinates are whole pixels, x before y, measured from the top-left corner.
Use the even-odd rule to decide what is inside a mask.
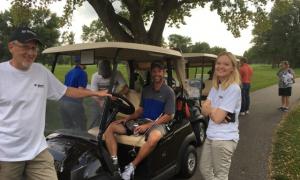
[[[95,42],[72,44],[45,49],[43,54],[81,56],[82,64],[95,64],[96,60],[132,61],[137,69],[149,69],[152,61],[169,60],[176,71],[179,82],[185,79],[185,61],[180,52],[159,46],[127,42]],[[54,62],[55,64],[55,62]],[[55,67],[55,66],[54,66]],[[54,72],[54,68],[52,68]]]

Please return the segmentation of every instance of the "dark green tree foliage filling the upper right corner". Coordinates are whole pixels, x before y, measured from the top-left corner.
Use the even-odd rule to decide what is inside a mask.
[[[245,54],[254,62],[288,60],[300,66],[300,1],[276,0],[266,21],[253,30],[254,46]]]

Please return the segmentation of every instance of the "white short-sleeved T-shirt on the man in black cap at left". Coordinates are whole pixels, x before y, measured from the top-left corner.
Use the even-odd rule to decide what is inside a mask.
[[[47,99],[58,100],[67,87],[41,64],[20,71],[0,63],[0,161],[34,159],[47,148]]]

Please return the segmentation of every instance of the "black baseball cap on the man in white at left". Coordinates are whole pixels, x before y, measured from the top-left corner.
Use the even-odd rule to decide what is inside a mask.
[[[37,34],[28,27],[19,27],[17,28],[10,36],[9,42],[11,41],[19,41],[20,43],[27,43],[29,41],[35,40],[40,45],[43,43],[38,38]]]

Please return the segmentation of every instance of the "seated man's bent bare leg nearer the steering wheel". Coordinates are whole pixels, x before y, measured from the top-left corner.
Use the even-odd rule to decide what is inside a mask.
[[[111,156],[117,156],[117,151],[118,151],[115,133],[126,134],[126,129],[122,124],[112,123],[105,130],[104,133],[105,144]]]

